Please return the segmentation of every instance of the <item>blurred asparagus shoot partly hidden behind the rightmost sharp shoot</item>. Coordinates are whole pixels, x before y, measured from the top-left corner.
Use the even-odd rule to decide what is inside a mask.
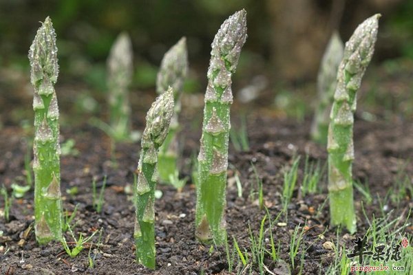
[[[321,60],[317,77],[318,104],[311,125],[311,138],[320,144],[327,144],[331,105],[337,85],[337,69],[339,69],[341,58],[343,58],[343,48],[339,34],[334,32]]]

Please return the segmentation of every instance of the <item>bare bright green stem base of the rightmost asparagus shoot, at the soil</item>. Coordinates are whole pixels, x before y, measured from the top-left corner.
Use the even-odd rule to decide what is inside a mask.
[[[351,234],[356,232],[352,185],[339,191],[330,191],[331,225],[345,225]]]

